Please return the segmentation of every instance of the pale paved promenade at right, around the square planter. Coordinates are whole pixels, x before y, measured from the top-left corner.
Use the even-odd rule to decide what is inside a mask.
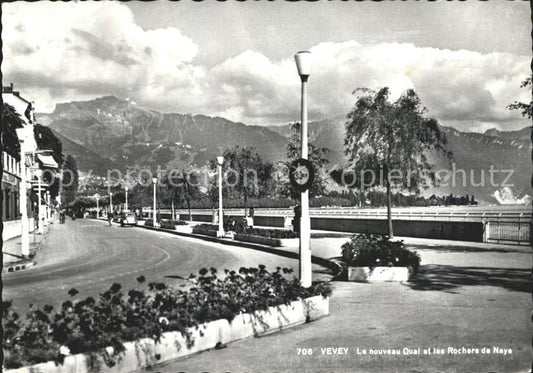
[[[313,240],[313,254],[333,256],[343,241]],[[423,239],[406,244],[422,257],[422,271],[412,282],[333,282],[329,317],[146,372],[527,372],[531,249]],[[347,354],[323,354],[328,347],[348,348]],[[445,353],[423,355],[434,347]],[[479,353],[448,353],[448,347]],[[483,347],[490,354],[481,353]],[[512,353],[494,353],[494,347]],[[421,348],[421,355],[369,353],[404,348]]]

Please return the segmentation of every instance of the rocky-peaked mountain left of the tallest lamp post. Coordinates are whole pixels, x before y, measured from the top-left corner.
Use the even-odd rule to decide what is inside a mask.
[[[155,163],[172,154],[203,164],[236,145],[255,147],[270,161],[285,154],[285,139],[266,128],[205,115],[159,113],[114,96],[58,104],[52,114],[39,118],[123,167]]]

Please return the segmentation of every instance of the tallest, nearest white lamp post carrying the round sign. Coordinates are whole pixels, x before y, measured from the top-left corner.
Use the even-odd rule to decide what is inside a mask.
[[[307,79],[311,73],[311,53],[298,52],[294,56],[298,75],[302,81],[301,94],[301,157],[308,158],[307,147]],[[309,218],[309,191],[301,192],[300,218],[300,283],[303,287],[311,286],[311,219]]]

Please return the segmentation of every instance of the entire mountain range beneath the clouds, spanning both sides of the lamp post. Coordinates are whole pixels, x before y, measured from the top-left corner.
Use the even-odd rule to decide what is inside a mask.
[[[168,162],[202,166],[237,145],[254,147],[266,161],[285,160],[290,136],[289,125],[248,126],[220,117],[161,113],[115,96],[57,104],[52,113],[37,114],[37,119],[56,133],[64,152],[75,156],[81,171],[102,176],[108,169],[164,168]],[[330,149],[331,167],[342,166],[346,160],[344,123],[342,117],[309,123],[309,142]],[[482,202],[497,203],[494,193],[501,187],[489,180],[491,166],[500,174],[494,178],[499,182],[504,170],[513,170],[507,183],[518,198],[531,194],[530,127],[485,133],[441,128],[453,158],[432,155],[432,161],[437,169],[450,169],[455,163],[459,183],[430,188],[424,194],[474,194]],[[468,179],[465,185],[460,170]],[[483,185],[472,185],[481,181]]]

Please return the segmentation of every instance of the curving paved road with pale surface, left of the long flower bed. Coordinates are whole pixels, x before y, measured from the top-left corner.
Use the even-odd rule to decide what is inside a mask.
[[[203,267],[222,271],[259,264],[267,269],[293,268],[298,275],[294,259],[85,219],[51,225],[37,255],[35,267],[3,275],[3,298],[13,300],[21,311],[29,303],[58,306],[69,298],[71,288],[79,296],[97,295],[113,282],[130,289],[140,275],[147,281],[179,284],[180,280],[165,276],[187,277]],[[313,271],[324,276],[322,267],[314,266]]]

